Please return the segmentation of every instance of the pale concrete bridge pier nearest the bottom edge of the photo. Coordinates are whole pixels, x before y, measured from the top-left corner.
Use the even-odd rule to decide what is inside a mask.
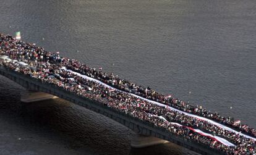
[[[156,138],[155,136],[145,136],[136,134],[130,143],[132,148],[145,148],[153,145],[160,145],[164,143],[169,143],[169,141]]]

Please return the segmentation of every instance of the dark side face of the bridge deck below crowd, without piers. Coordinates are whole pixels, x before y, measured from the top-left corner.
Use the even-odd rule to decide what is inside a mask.
[[[72,103],[78,104],[79,106],[86,107],[92,111],[99,114],[103,114],[116,122],[134,130],[135,132],[147,135],[155,136],[156,138],[161,138],[163,140],[176,143],[177,145],[188,148],[200,154],[224,154],[217,149],[210,148],[210,146],[203,145],[202,143],[197,143],[195,140],[186,139],[180,135],[168,132],[164,128],[156,127],[153,124],[145,122],[143,120],[137,119],[130,116],[129,114],[124,114],[108,106],[104,106],[98,101],[93,101],[92,99],[84,98],[75,93],[70,93],[56,85],[43,83],[40,80],[29,77],[19,72],[14,72],[14,70],[6,69],[0,65],[0,74],[13,80],[15,83],[33,91],[42,91],[45,93],[53,94],[59,98],[66,99]]]

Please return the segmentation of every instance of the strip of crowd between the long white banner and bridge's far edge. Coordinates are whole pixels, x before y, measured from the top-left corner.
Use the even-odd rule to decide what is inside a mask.
[[[202,108],[202,106],[191,106],[185,101],[182,101],[181,99],[175,99],[171,95],[160,94],[149,87],[145,88],[143,86],[129,82],[128,80],[124,80],[117,76],[114,76],[113,73],[105,73],[101,70],[90,68],[87,65],[80,63],[79,61],[62,60],[61,63],[63,63],[64,66],[67,67],[67,69],[82,73],[84,75],[87,75],[88,77],[96,78],[101,82],[111,85],[119,90],[126,91],[127,93],[137,94],[138,96],[142,96],[143,98],[147,98],[158,103],[175,107],[176,109],[179,109],[181,111],[189,112],[218,121],[221,124],[229,125],[229,127],[239,129],[242,132],[249,133],[250,135],[256,137],[256,130],[254,128],[249,128],[248,125],[241,123],[237,124],[234,119],[231,119],[230,117],[223,117],[217,112],[213,113],[207,111],[206,109]]]

